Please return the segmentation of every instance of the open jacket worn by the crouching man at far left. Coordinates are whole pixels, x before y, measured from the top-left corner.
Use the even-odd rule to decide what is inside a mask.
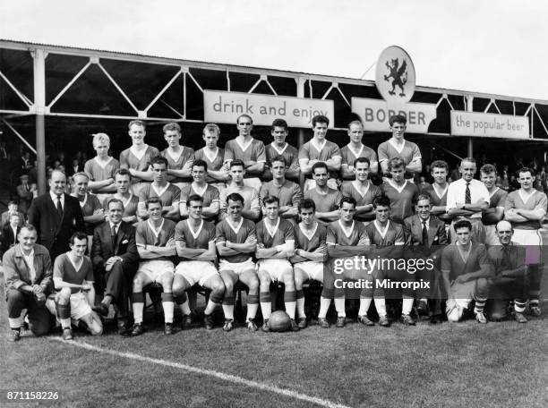
[[[8,289],[19,290],[22,285],[40,285],[47,295],[53,290],[51,258],[46,247],[36,244],[34,246],[34,269],[36,277],[30,280],[29,268],[23,256],[20,245],[4,253],[2,259],[4,267],[5,293]]]

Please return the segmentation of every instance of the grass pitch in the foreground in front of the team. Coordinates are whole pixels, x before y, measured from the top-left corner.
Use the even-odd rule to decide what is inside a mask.
[[[2,293],[4,297],[4,294]],[[544,310],[548,304],[544,302]],[[5,302],[0,322],[7,330]],[[475,320],[431,326],[343,329],[307,327],[298,333],[249,333],[238,326],[195,327],[164,336],[121,337],[114,325],[84,342],[84,350],[51,336],[0,339],[0,406],[5,392],[58,391],[66,407],[314,407],[311,402],[210,375],[140,361],[133,353],[256,381],[329,404],[352,407],[548,406],[548,318],[479,325]],[[18,403],[13,406],[39,406]]]

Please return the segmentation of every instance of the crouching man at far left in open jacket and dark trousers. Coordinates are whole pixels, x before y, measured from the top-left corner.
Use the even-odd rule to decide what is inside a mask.
[[[4,253],[4,291],[11,342],[21,339],[23,309],[28,310],[30,330],[35,336],[46,335],[51,327],[46,308],[47,295],[53,290],[51,259],[47,249],[36,244],[37,238],[34,226],[23,225],[19,243]]]

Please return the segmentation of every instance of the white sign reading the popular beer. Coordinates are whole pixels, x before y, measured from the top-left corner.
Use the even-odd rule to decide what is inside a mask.
[[[451,134],[528,139],[529,121],[527,116],[451,111]]]

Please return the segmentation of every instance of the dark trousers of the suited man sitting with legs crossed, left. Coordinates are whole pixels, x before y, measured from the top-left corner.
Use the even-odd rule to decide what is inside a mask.
[[[114,299],[118,307],[119,318],[126,318],[129,315],[129,299],[137,267],[137,263],[118,261],[108,272],[103,270],[105,295],[108,294]]]

